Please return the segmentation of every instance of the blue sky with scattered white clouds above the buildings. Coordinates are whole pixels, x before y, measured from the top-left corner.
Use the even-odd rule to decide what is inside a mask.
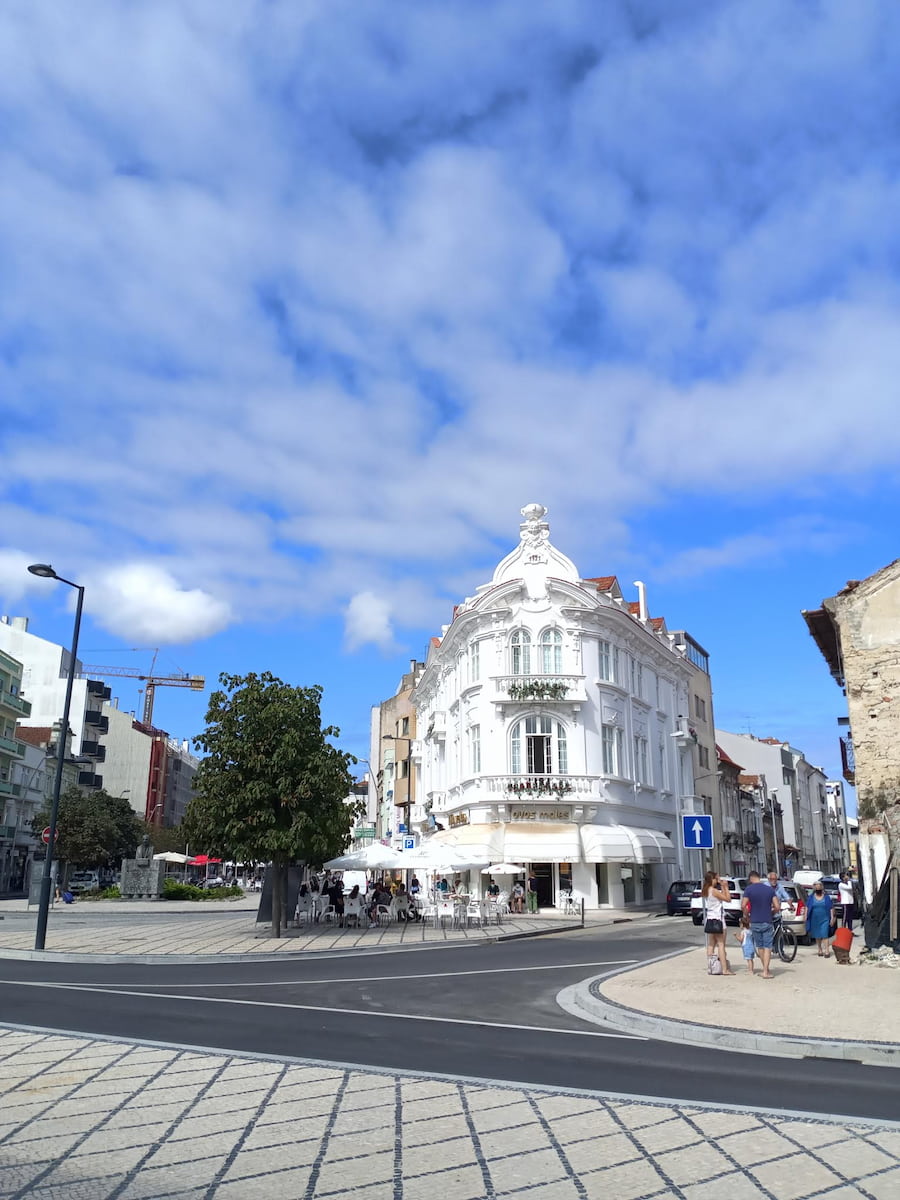
[[[365,755],[538,500],[707,646],[720,725],[836,772],[799,610],[898,556],[899,35],[889,0],[12,0],[4,611],[65,640],[52,560],[86,661],[322,683]]]

